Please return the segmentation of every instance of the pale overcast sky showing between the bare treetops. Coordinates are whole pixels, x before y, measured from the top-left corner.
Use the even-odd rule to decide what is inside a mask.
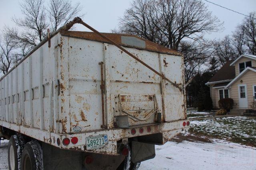
[[[204,0],[203,0],[204,1]],[[256,0],[209,0],[221,6],[225,6],[232,10],[243,14],[249,14],[256,11]],[[20,0],[0,0],[0,29],[4,25],[14,26],[11,21],[12,16],[21,16]],[[48,0],[46,0],[48,2]],[[83,6],[83,20],[100,32],[110,32],[111,29],[118,27],[118,18],[122,17],[125,10],[129,8],[132,0],[73,0],[74,3],[80,2]],[[222,38],[231,34],[236,25],[241,23],[244,16],[220,8],[204,1],[212,14],[217,16],[220,21],[224,22],[224,31],[206,35],[209,39]],[[77,26],[80,31],[88,31],[84,26]]]

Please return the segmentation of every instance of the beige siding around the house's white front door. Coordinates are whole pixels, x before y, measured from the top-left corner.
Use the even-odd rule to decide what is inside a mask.
[[[242,83],[240,82],[242,80]],[[231,85],[230,89],[230,98],[234,100],[234,109],[239,108],[238,100],[238,84],[246,84],[247,86],[247,98],[248,98],[248,108],[253,102],[253,89],[252,86],[256,85],[256,72],[249,70],[243,76],[238,78],[234,84]]]

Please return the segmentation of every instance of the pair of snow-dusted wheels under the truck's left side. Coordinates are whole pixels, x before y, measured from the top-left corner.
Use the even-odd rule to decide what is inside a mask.
[[[10,170],[42,170],[42,148],[37,141],[26,143],[21,135],[13,135],[8,144]]]

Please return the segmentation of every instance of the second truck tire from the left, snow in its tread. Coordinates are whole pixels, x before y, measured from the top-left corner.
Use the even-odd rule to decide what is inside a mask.
[[[21,170],[43,170],[42,154],[42,147],[37,141],[26,143],[21,157]]]

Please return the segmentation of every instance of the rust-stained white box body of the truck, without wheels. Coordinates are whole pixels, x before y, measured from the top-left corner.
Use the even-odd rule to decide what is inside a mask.
[[[183,87],[180,53],[136,36],[104,35]],[[180,133],[184,93],[95,33],[61,31],[1,79],[0,125],[58,148],[117,155],[121,139],[159,134],[146,140],[161,145]],[[126,128],[117,125],[121,115]],[[108,143],[89,150],[86,137],[97,135]],[[78,143],[63,145],[66,137]]]

